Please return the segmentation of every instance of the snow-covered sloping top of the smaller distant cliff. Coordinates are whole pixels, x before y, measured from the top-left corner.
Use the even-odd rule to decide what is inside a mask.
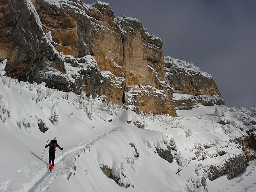
[[[180,59],[173,59],[169,56],[166,56],[165,63],[166,63],[166,68],[170,68],[168,69],[170,70],[170,72],[172,72],[173,70],[181,70],[181,71],[188,71],[189,73],[192,73],[192,74],[198,73],[207,78],[212,78],[211,74],[201,71],[199,67],[196,67],[194,66],[193,63],[189,63],[187,61],[183,61]]]

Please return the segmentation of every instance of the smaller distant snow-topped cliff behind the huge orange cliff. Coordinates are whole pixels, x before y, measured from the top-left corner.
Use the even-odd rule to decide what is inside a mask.
[[[173,98],[177,109],[192,109],[197,103],[207,106],[225,105],[212,76],[202,72],[193,63],[167,56],[165,57],[165,71],[170,86],[177,93]]]

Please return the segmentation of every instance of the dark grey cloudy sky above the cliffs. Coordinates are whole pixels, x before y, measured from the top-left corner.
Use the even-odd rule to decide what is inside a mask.
[[[165,56],[193,62],[212,74],[227,106],[256,107],[255,0],[105,2],[116,17],[135,17],[159,36]]]

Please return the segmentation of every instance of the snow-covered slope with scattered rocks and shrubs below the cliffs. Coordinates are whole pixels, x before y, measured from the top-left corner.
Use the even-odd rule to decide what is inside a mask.
[[[3,76],[5,63],[0,191],[255,191],[256,162],[247,161],[255,156],[255,109],[137,115],[103,97],[18,83]],[[42,154],[54,137],[64,150],[47,173],[48,149]]]

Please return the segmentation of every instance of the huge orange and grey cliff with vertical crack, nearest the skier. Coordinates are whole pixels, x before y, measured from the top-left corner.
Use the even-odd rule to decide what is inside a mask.
[[[162,41],[139,20],[116,19],[109,4],[99,1],[4,2],[0,59],[8,59],[9,76],[176,116]]]

